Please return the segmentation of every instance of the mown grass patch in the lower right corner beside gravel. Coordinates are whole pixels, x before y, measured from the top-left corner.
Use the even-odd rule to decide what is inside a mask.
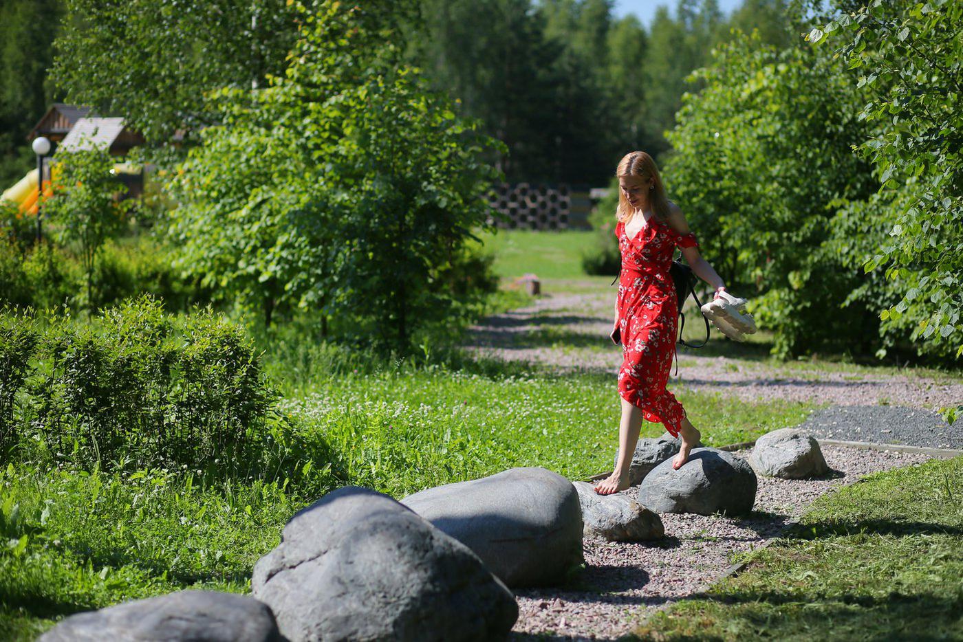
[[[650,616],[654,640],[963,639],[963,457],[869,475],[708,594]]]

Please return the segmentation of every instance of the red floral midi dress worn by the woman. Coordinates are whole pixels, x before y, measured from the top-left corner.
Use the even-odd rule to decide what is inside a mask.
[[[664,424],[669,434],[678,437],[686,411],[665,390],[679,318],[669,268],[676,246],[697,247],[698,243],[691,232],[679,234],[655,217],[634,239],[629,239],[620,221],[615,236],[622,253],[616,299],[623,354],[618,394],[641,408],[647,421]]]

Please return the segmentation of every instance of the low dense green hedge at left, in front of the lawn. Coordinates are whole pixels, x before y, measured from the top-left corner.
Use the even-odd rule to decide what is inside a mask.
[[[170,317],[142,296],[92,322],[43,323],[14,423],[55,458],[237,473],[256,450],[248,447],[273,439],[277,395],[258,355],[210,310]]]

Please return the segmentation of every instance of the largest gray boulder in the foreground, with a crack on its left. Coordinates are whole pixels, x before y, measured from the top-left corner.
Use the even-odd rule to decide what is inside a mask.
[[[505,638],[518,604],[475,553],[392,498],[348,487],[299,511],[254,596],[301,640]]]

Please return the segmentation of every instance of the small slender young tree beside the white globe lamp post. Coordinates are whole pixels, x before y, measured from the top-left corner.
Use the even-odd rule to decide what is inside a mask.
[[[60,243],[76,248],[87,276],[87,305],[93,305],[93,272],[104,242],[123,227],[131,201],[117,202],[114,157],[92,146],[57,155],[57,186],[42,214],[56,225]]]

